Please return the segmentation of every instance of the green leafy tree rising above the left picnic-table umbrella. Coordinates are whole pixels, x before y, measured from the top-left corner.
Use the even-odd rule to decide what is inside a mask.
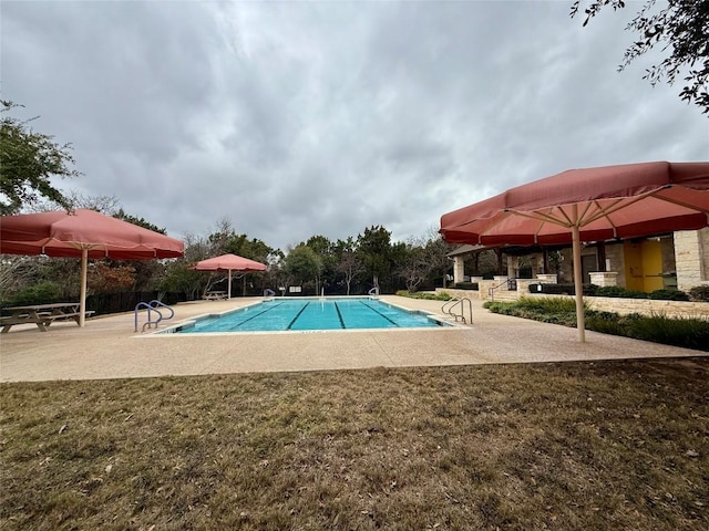
[[[29,128],[30,121],[6,116],[18,105],[1,101],[0,122],[0,214],[18,212],[40,197],[70,209],[69,200],[51,183],[52,177],[81,175],[71,168],[71,144],[59,145],[53,137]],[[32,118],[34,119],[34,118]]]

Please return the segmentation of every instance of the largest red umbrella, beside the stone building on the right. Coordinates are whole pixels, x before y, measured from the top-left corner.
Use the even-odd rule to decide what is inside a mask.
[[[580,242],[698,230],[709,225],[709,163],[640,163],[571,169],[441,217],[452,243],[572,243],[579,340]]]

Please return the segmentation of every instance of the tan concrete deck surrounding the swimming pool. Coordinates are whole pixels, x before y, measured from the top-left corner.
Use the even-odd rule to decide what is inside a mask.
[[[434,314],[442,305],[381,299]],[[167,325],[259,300],[177,304]],[[472,304],[472,325],[421,330],[152,335],[133,332],[133,313],[91,319],[84,329],[73,322],[54,323],[48,332],[18,325],[0,335],[0,382],[708,355],[596,332],[578,343],[575,329],[490,313],[482,301]]]

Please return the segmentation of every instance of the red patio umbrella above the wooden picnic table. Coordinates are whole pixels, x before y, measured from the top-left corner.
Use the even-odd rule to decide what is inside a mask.
[[[0,217],[0,252],[81,258],[80,326],[86,309],[89,258],[150,260],[177,258],[184,243],[94,210]]]

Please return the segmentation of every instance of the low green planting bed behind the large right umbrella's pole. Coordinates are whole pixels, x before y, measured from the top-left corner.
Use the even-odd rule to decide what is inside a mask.
[[[491,312],[545,323],[576,326],[576,302],[572,298],[522,298],[514,302],[485,302]],[[623,335],[665,345],[709,352],[709,321],[700,317],[666,315],[618,315],[585,308],[586,330]]]

